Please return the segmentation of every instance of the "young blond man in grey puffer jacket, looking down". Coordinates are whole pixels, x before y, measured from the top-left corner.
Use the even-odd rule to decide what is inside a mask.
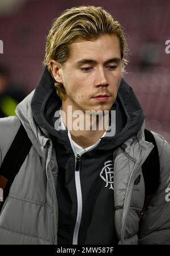
[[[101,7],[72,8],[54,21],[39,84],[16,117],[0,121],[0,164],[21,123],[32,143],[1,210],[0,243],[170,243],[170,148],[157,134],[160,184],[139,226],[142,164],[154,146],[122,79],[125,52],[120,24]],[[107,126],[99,129],[102,116],[90,117],[96,129],[84,129],[87,110],[100,111]],[[83,129],[76,129],[75,113]]]

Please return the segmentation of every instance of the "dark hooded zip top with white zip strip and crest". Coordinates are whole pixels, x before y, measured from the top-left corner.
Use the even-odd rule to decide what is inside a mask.
[[[113,151],[141,129],[145,119],[141,105],[131,87],[121,79],[112,106],[116,110],[116,134],[101,138],[95,148],[81,156],[79,173],[75,171],[76,159],[67,130],[54,128],[54,113],[60,107],[53,78],[45,68],[31,108],[35,121],[48,131],[56,149],[58,244],[116,245]]]

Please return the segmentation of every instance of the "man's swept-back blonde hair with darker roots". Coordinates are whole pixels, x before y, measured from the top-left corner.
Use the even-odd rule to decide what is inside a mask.
[[[127,64],[127,43],[122,27],[111,14],[102,7],[95,6],[67,9],[54,20],[46,39],[44,65],[47,65],[50,71],[51,59],[64,64],[70,56],[71,43],[78,40],[95,40],[103,34],[115,34],[118,37],[124,71]],[[54,86],[61,100],[65,100],[64,86],[56,81],[54,81]]]

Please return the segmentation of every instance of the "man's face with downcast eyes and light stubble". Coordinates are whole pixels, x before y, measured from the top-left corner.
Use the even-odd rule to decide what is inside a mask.
[[[63,104],[73,110],[111,109],[122,73],[117,36],[105,34],[94,41],[75,42],[70,49],[60,72],[67,93]]]

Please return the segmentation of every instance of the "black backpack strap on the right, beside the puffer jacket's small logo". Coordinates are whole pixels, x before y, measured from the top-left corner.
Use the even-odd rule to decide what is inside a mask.
[[[154,135],[151,131],[145,129],[145,140],[154,144],[154,148],[148,155],[145,162],[142,164],[142,174],[145,181],[145,201],[141,212],[141,220],[145,215],[148,204],[154,196],[159,186],[160,180],[160,163],[159,163],[159,152],[156,145]]]

